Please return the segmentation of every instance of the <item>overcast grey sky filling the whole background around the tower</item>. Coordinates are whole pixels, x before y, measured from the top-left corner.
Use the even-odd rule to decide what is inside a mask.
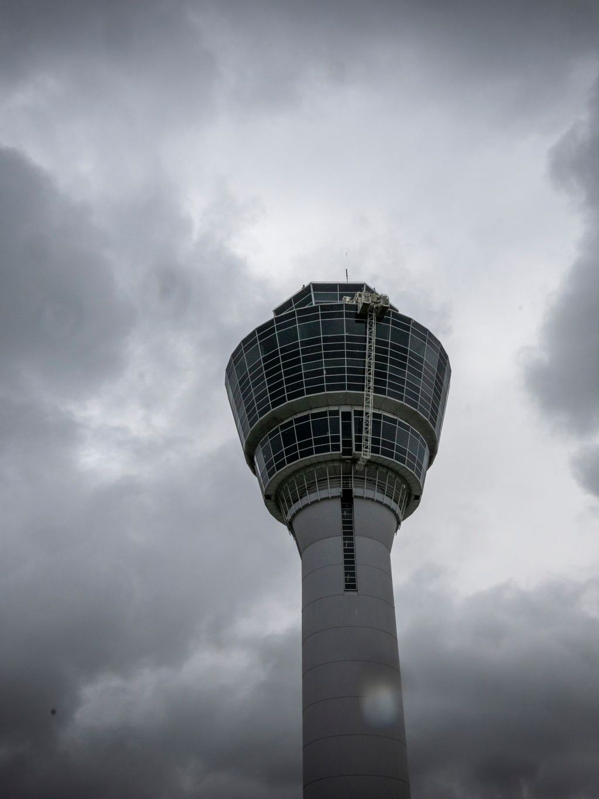
[[[415,799],[599,796],[599,5],[0,2],[0,782],[300,799],[300,560],[224,393],[308,280],[439,336]]]

